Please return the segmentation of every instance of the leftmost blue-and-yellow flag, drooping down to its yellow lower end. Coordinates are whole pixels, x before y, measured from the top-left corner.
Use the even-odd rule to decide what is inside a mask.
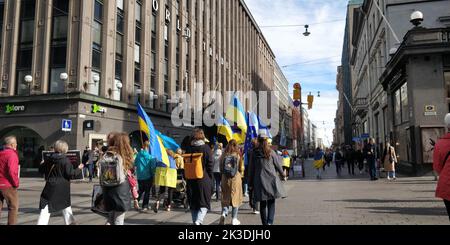
[[[155,173],[155,185],[176,187],[177,182],[177,167],[175,161],[172,161],[167,154],[166,147],[163,140],[158,136],[158,131],[155,129],[150,117],[145,112],[144,108],[138,103],[138,120],[139,127],[144,132],[150,142],[150,155],[158,161]]]

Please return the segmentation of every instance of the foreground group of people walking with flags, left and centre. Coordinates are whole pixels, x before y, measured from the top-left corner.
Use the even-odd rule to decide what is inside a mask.
[[[98,178],[106,225],[123,225],[126,213],[133,207],[140,212],[153,209],[157,213],[164,205],[165,211],[170,212],[180,176],[186,184],[186,204],[193,224],[204,223],[215,197],[222,206],[219,224],[225,224],[231,214],[231,224],[240,225],[239,208],[246,196],[253,213],[261,216],[261,223],[274,224],[275,200],[286,197],[282,181],[287,180],[289,172],[283,169],[283,158],[272,149],[267,136],[261,134],[252,142],[246,156],[248,161],[244,161],[243,145],[235,140],[225,147],[219,143],[211,145],[201,129],[195,129],[183,142],[176,152],[167,150],[176,163],[177,174],[172,175],[171,167],[162,167],[150,154],[148,141],[143,142],[139,151],[133,150],[126,133],[110,133],[106,144],[92,150],[86,148],[76,167],[66,155],[68,143],[58,140],[51,156],[42,160],[39,167],[45,187],[40,196],[37,224],[48,225],[50,216],[56,213],[62,213],[66,225],[77,224],[71,207],[71,180],[80,175],[89,176],[90,182]],[[8,206],[9,225],[17,224],[19,211],[17,147],[16,137],[9,136],[0,149],[0,204],[3,207],[5,202]],[[189,156],[190,160],[200,156],[201,174],[195,178],[189,177],[192,171],[198,171],[198,168],[191,169],[195,161],[185,161]],[[150,205],[152,195],[153,206]]]

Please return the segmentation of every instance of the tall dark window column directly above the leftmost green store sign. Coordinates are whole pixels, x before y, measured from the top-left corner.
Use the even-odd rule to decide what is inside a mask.
[[[26,84],[25,76],[31,74],[33,60],[33,37],[36,1],[23,0],[20,8],[20,37],[17,57],[17,94],[26,95],[31,84]]]

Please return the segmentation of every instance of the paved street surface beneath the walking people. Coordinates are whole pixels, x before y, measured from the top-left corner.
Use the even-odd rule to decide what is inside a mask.
[[[344,169],[346,172],[346,169]],[[450,224],[443,203],[434,198],[436,182],[432,177],[399,178],[395,183],[386,179],[370,182],[365,176],[337,179],[335,169],[325,172],[324,179],[315,180],[312,162],[306,163],[306,179],[290,180],[286,183],[289,197],[277,202],[276,224],[299,225],[415,225]],[[19,223],[34,225],[39,210],[39,195],[44,181],[22,179],[20,188]],[[104,218],[90,211],[91,184],[72,184],[72,207],[80,225],[102,225]],[[4,208],[3,211],[6,211]],[[5,214],[0,224],[5,224]],[[217,224],[220,204],[213,202],[213,211],[206,224]],[[239,219],[244,225],[259,225],[258,215],[250,213],[248,204],[241,208]],[[230,221],[228,221],[230,222]],[[190,223],[190,214],[184,210],[171,213],[161,211],[129,212],[127,225],[185,225]],[[62,225],[60,215],[50,220],[51,225]]]

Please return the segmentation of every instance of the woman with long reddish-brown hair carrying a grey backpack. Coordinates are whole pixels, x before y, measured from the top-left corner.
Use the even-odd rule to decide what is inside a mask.
[[[105,202],[105,211],[109,213],[107,225],[123,225],[126,212],[130,209],[131,186],[128,181],[128,171],[133,168],[133,149],[131,149],[130,138],[127,133],[114,133],[108,137],[108,151],[100,160],[100,179],[103,179],[102,166],[109,164],[113,159],[113,164],[120,166],[125,181],[115,186],[108,186],[100,181]]]

